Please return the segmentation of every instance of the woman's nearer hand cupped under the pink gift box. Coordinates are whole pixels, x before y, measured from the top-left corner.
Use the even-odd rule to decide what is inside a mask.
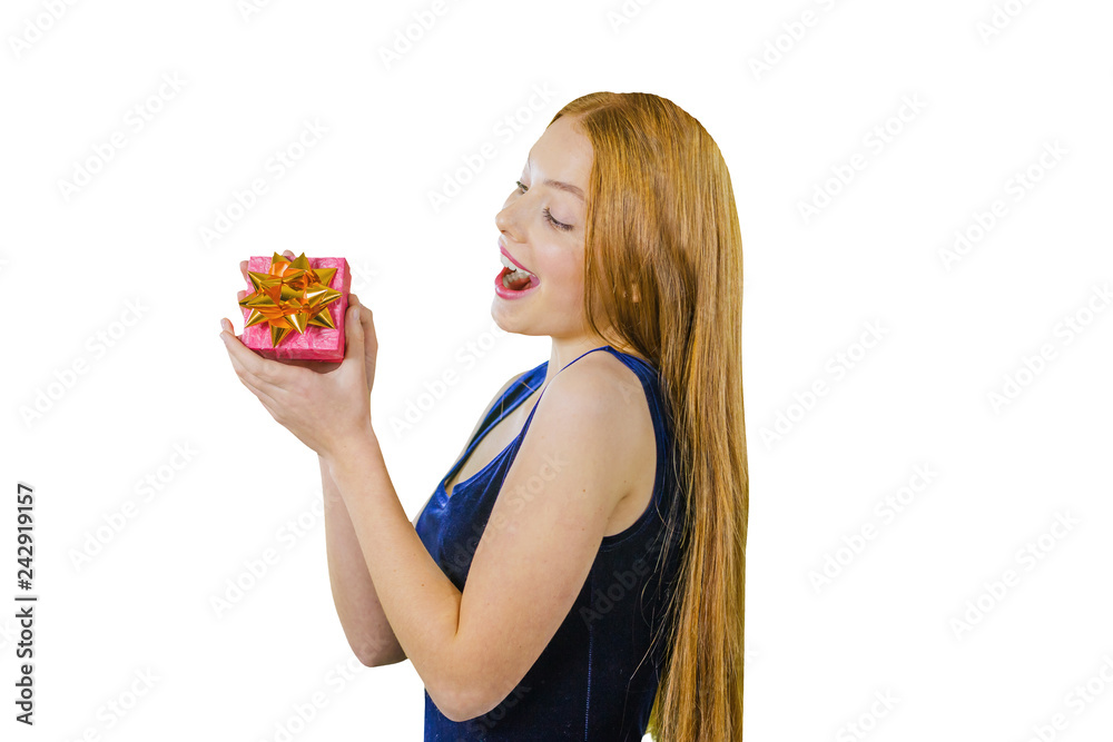
[[[375,328],[371,311],[363,310],[354,294],[348,297],[344,360],[339,364],[292,365],[296,362],[264,358],[233,334],[232,323],[220,320],[220,339],[239,380],[272,417],[325,459],[372,433],[367,355],[377,352]],[[368,337],[374,348],[368,347]]]

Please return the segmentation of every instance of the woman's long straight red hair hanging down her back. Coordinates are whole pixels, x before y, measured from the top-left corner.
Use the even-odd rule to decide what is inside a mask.
[[[730,175],[699,121],[659,96],[595,92],[553,121],[562,116],[594,149],[584,314],[657,366],[677,446],[681,496],[668,520],[682,518],[682,556],[648,731],[657,742],[738,742],[749,477]]]

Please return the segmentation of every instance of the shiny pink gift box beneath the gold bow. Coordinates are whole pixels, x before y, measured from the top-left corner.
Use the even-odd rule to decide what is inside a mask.
[[[306,256],[308,257],[308,256]],[[323,311],[327,311],[333,317],[336,329],[328,327],[317,327],[309,325],[304,333],[292,329],[286,333],[278,347],[270,345],[270,325],[259,323],[244,328],[244,334],[239,339],[264,358],[276,360],[328,360],[339,363],[344,360],[344,318],[347,316],[347,296],[352,288],[352,271],[348,269],[347,260],[344,258],[308,258],[311,268],[336,268],[336,274],[328,283],[328,287],[341,293],[341,298],[327,305]],[[270,258],[253,256],[247,260],[247,269],[252,273],[269,273]],[[247,284],[248,293],[254,293],[255,287],[250,281]],[[244,321],[252,315],[252,310],[242,307],[244,310]]]

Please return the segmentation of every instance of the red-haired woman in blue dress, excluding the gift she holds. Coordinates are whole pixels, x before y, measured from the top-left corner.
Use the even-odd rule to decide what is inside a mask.
[[[496,215],[500,327],[552,338],[417,517],[370,415],[352,297],[327,373],[225,340],[317,452],[329,577],[368,665],[410,659],[426,740],[742,739],[741,236],[718,147],[648,93],[565,106]],[[551,388],[550,388],[551,387]]]

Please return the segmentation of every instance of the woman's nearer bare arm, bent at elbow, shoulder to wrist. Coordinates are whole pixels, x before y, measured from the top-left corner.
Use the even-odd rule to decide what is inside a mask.
[[[615,431],[633,425],[638,410],[605,387],[633,372],[598,358],[556,375],[539,399],[503,481],[511,494],[495,498],[466,590],[444,574],[405,517],[373,425],[325,454],[383,611],[452,721],[494,709],[536,662],[581,593],[630,481],[634,457]],[[523,497],[539,476],[544,496]]]

